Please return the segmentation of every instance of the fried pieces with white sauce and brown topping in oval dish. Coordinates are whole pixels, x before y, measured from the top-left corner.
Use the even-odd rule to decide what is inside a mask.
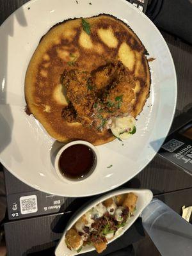
[[[65,243],[69,250],[80,252],[92,245],[103,252],[108,241],[120,235],[136,209],[138,196],[134,193],[113,196],[86,212],[67,230]]]

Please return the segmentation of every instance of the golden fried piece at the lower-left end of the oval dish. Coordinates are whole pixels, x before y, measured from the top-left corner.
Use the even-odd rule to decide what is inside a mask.
[[[83,239],[79,236],[76,230],[70,228],[65,235],[65,243],[70,250],[71,248],[77,250],[83,245]]]

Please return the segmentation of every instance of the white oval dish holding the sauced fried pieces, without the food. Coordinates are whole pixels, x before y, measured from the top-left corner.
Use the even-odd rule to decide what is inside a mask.
[[[138,196],[138,201],[136,204],[136,211],[134,211],[134,216],[132,216],[131,219],[126,223],[124,228],[122,228],[120,234],[118,234],[118,236],[113,237],[113,239],[111,239],[108,242],[108,244],[112,243],[115,239],[122,236],[124,234],[124,232],[129,227],[131,227],[131,225],[134,223],[134,221],[136,221],[136,219],[140,216],[143,209],[145,209],[145,207],[150,203],[150,201],[152,200],[152,197],[153,197],[152,191],[150,191],[148,189],[119,189],[119,190],[113,191],[111,193],[108,193],[106,195],[100,196],[99,198],[94,200],[92,203],[83,207],[83,209],[79,209],[79,211],[77,213],[75,213],[74,216],[72,216],[72,218],[68,221],[67,227],[65,227],[65,230],[63,232],[63,236],[61,237],[60,242],[58,243],[58,246],[56,247],[55,255],[56,256],[73,256],[73,255],[78,255],[81,253],[91,252],[91,251],[95,250],[95,248],[90,245],[90,246],[84,246],[81,250],[81,253],[70,251],[67,248],[67,245],[65,244],[65,234],[66,234],[67,230],[69,230],[76,223],[76,221],[79,220],[79,218],[83,214],[85,214],[87,211],[92,209],[92,207],[94,207],[95,205],[99,204],[100,202],[103,202],[104,200],[106,200],[112,196],[130,193],[130,192],[132,192]]]

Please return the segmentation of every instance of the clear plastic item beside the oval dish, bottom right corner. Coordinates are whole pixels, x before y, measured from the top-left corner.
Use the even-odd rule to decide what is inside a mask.
[[[163,256],[192,255],[192,225],[158,199],[141,214],[143,227]]]

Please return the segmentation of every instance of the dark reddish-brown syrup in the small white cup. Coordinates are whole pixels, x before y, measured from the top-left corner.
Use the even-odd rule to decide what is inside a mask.
[[[70,179],[82,179],[93,170],[95,160],[95,154],[90,147],[83,144],[72,145],[60,156],[60,172]]]

